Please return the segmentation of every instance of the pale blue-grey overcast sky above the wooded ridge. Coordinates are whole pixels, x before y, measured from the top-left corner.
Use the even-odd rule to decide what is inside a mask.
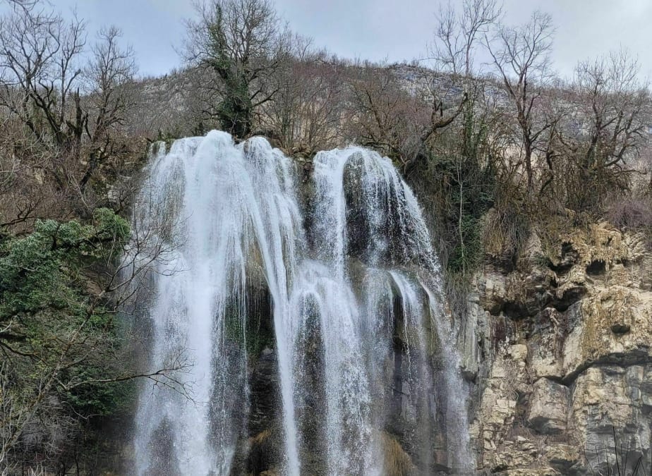
[[[453,0],[454,4],[461,0]],[[313,37],[315,46],[347,58],[410,61],[425,55],[439,0],[277,0],[290,28]],[[70,14],[77,8],[92,34],[102,25],[123,30],[140,73],[158,75],[180,66],[174,47],[183,38],[191,0],[50,0]],[[505,0],[505,23],[525,23],[532,11],[553,16],[553,61],[570,77],[575,63],[627,47],[639,57],[641,73],[652,76],[652,0]]]

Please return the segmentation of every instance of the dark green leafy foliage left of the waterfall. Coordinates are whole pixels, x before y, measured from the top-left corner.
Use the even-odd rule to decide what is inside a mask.
[[[89,273],[111,267],[129,236],[128,223],[101,208],[89,224],[37,221],[27,236],[0,243],[0,350],[17,394],[50,382],[47,393],[76,415],[123,405],[122,386],[80,383],[116,372],[115,314],[101,282],[91,291]]]

